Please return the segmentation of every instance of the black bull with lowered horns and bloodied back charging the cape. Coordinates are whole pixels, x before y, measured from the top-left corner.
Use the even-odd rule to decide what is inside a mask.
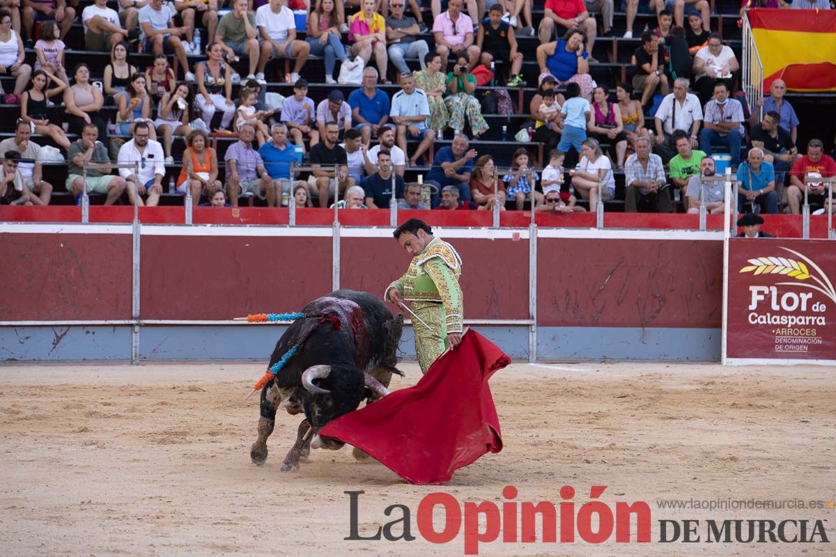
[[[262,388],[258,438],[250,452],[252,462],[259,466],[267,460],[267,439],[273,433],[277,408],[291,414],[304,412],[283,471],[298,468],[312,439],[314,448],[342,447],[344,443],[334,439],[319,438],[319,429],[355,410],[364,398],[371,401],[384,396],[392,373],[400,374],[395,364],[403,315],[393,317],[380,298],[338,290],[310,302],[302,312],[306,317],[288,327],[270,357],[268,368],[297,347]]]

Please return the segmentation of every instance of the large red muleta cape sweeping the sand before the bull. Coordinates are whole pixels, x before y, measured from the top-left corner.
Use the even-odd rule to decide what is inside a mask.
[[[509,363],[495,344],[467,330],[415,387],[349,412],[319,434],[363,449],[410,484],[445,484],[456,469],[502,450],[487,380]]]

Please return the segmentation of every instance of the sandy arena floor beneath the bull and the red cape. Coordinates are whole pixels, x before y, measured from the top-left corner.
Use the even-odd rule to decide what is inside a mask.
[[[392,387],[417,381],[415,363]],[[576,509],[592,485],[602,501],[646,501],[653,542],[482,544],[483,555],[790,555],[836,553],[828,509],[660,509],[659,499],[803,499],[836,495],[833,368],[728,368],[663,363],[516,363],[492,380],[505,448],[446,486],[413,486],[349,448],[314,451],[281,473],[299,418],[279,414],[263,468],[250,463],[262,367],[247,364],[7,365],[0,368],[0,553],[4,555],[461,555],[422,539],[426,494],[460,502]],[[412,542],[345,541],[346,490],[365,491],[368,535],[405,504]],[[828,519],[831,543],[660,544],[660,519]],[[439,523],[440,524],[440,523]],[[703,523],[704,524],[704,523]],[[463,528],[462,528],[463,529]],[[395,529],[400,533],[400,527]],[[699,528],[702,542],[706,526]]]

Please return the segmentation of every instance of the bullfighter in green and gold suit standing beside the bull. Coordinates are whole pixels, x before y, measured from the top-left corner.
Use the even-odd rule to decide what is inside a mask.
[[[403,305],[421,321],[412,319],[415,354],[421,372],[447,347],[461,342],[463,309],[461,301],[461,257],[453,246],[432,235],[423,220],[410,219],[395,229],[395,240],[412,256],[404,276],[386,287],[384,300]]]

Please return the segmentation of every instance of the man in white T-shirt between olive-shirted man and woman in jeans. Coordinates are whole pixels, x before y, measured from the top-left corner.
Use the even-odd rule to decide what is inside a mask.
[[[299,72],[308,62],[311,47],[310,44],[296,38],[296,19],[293,12],[283,5],[282,0],[270,0],[269,5],[256,10],[256,26],[263,39],[256,79],[267,83],[264,81],[264,68],[267,68],[271,58],[291,58],[295,62],[293,72],[290,73],[290,83],[295,84]]]

